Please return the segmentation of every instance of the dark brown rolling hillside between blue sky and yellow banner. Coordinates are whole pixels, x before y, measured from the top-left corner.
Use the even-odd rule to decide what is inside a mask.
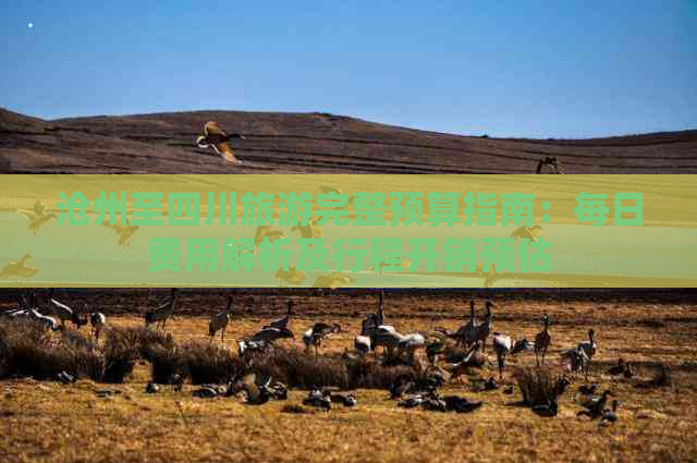
[[[224,167],[194,146],[208,120],[246,136],[233,143],[242,167]],[[0,172],[533,173],[543,156],[557,156],[570,173],[695,173],[697,131],[499,139],[325,113],[197,111],[44,121],[0,109]]]

